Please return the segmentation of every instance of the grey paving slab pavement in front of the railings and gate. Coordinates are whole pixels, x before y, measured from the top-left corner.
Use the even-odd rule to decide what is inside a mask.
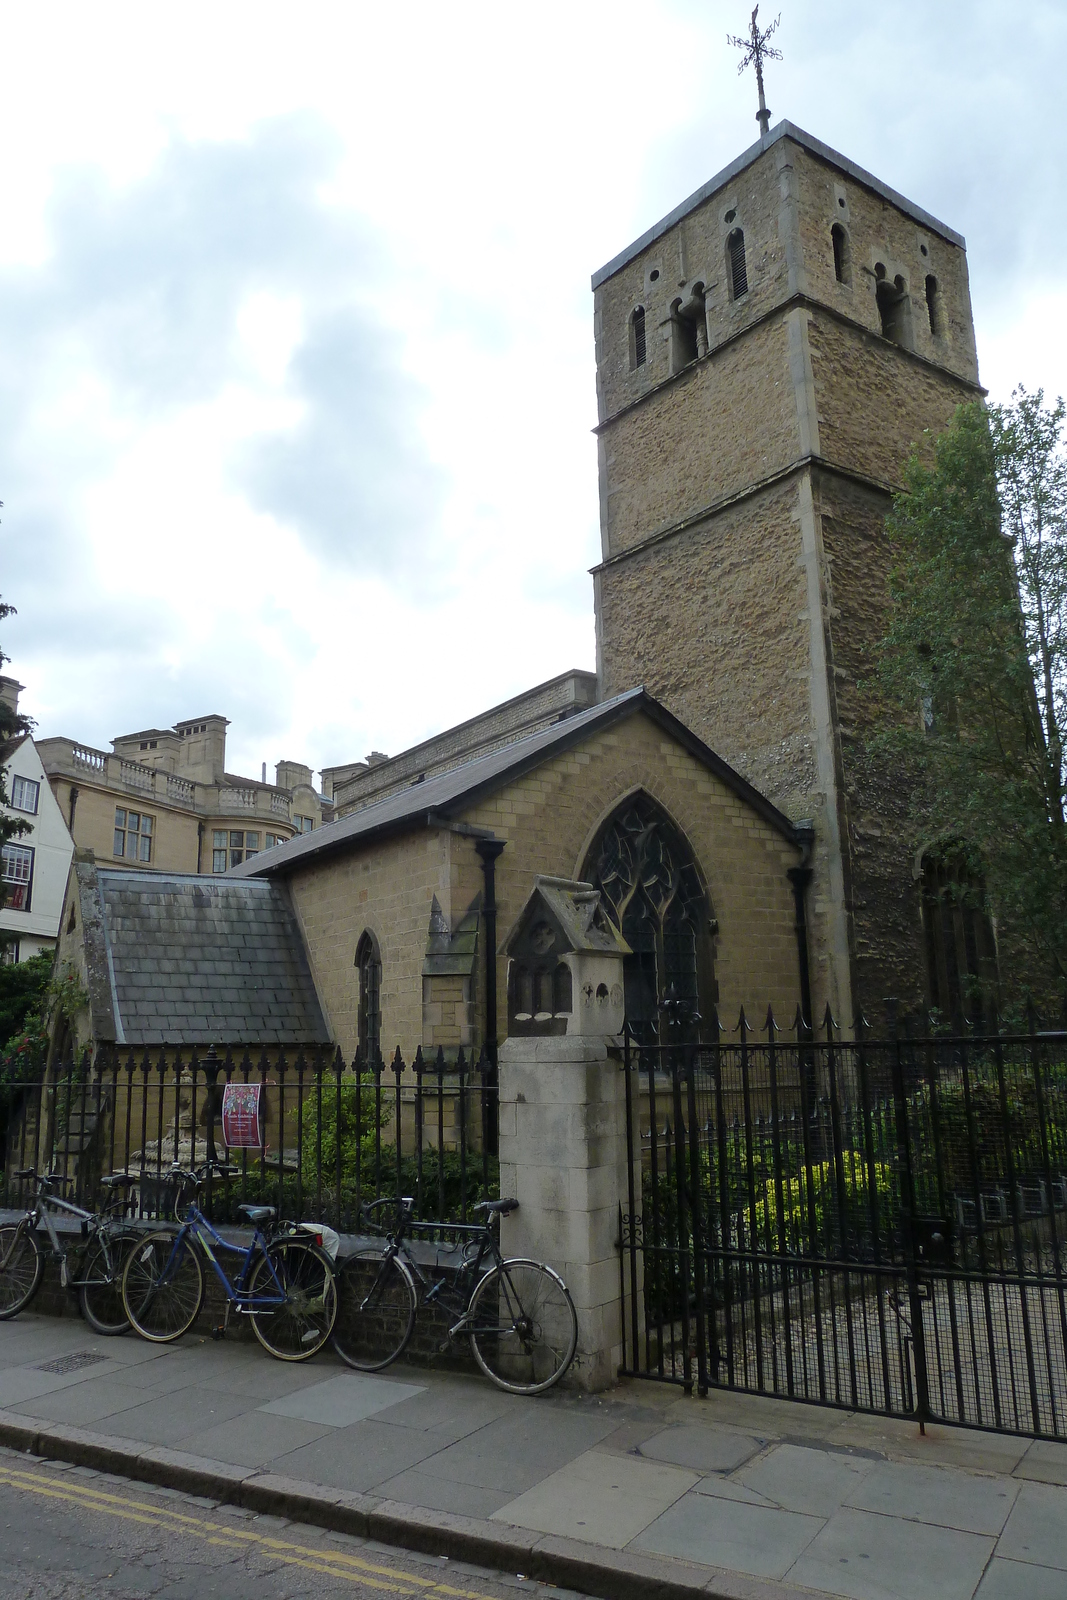
[[[0,1443],[625,1600],[1067,1600],[1067,1445],[0,1323]]]

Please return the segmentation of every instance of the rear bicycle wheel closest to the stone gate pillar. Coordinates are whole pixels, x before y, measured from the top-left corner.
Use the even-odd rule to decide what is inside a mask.
[[[537,1395],[574,1360],[577,1312],[563,1278],[539,1261],[504,1261],[470,1296],[470,1349],[499,1389]]]

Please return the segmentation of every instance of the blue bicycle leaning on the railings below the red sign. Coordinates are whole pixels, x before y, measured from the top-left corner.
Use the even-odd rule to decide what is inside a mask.
[[[168,1344],[192,1328],[203,1304],[203,1261],[206,1259],[226,1293],[230,1310],[246,1315],[264,1350],[282,1362],[306,1362],[322,1350],[338,1317],[338,1290],[333,1262],[307,1234],[291,1224],[275,1226],[269,1205],[242,1205],[253,1224],[251,1245],[230,1245],[190,1200],[181,1216],[182,1195],[198,1194],[208,1178],[238,1176],[237,1168],[208,1162],[195,1171],[174,1168],[179,1187],[178,1232],[158,1229],[146,1234],[131,1250],[122,1278],[122,1299],[130,1322],[142,1339]],[[261,1229],[266,1227],[266,1232]],[[238,1256],[230,1278],[216,1251]]]

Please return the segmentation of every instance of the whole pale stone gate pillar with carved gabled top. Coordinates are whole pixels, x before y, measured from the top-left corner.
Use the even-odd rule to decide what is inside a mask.
[[[624,1022],[627,946],[587,883],[537,878],[504,941],[509,1038],[499,1053],[506,1256],[563,1277],[577,1310],[582,1389],[614,1382],[621,1354],[619,1203],[627,1198]]]

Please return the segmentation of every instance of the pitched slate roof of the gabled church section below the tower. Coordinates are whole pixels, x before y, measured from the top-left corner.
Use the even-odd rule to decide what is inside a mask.
[[[258,856],[242,862],[240,867],[230,867],[227,880],[282,875],[294,867],[344,851],[349,845],[362,843],[374,834],[400,834],[419,826],[440,826],[437,819],[451,818],[478,797],[522,778],[523,773],[539,766],[549,757],[558,755],[573,744],[581,744],[590,734],[601,733],[635,712],[643,712],[659,723],[670,738],[750,805],[765,822],[777,829],[790,845],[800,848],[801,838],[797,829],[777,806],[771,805],[766,795],[753,789],[720,755],[715,755],[702,739],[697,739],[646,690],[635,688],[627,690],[625,694],[616,694],[614,699],[603,701],[600,706],[590,706],[589,710],[577,712],[539,733],[526,734],[525,739],[515,739],[499,750],[464,762],[462,766],[453,766],[424,782],[410,784],[408,789],[386,795],[384,800],[376,800],[336,822],[326,822],[312,834],[298,834],[283,845],[275,845],[274,850],[261,850]]]

